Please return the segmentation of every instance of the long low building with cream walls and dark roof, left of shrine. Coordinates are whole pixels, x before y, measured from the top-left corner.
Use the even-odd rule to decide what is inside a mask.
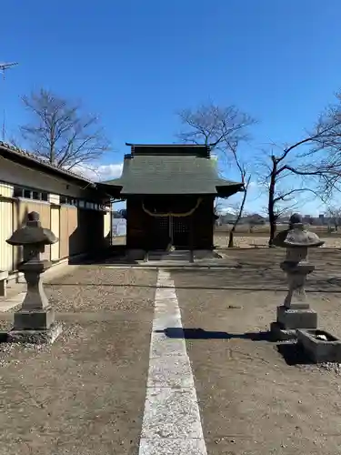
[[[5,240],[25,225],[32,211],[39,213],[42,227],[50,228],[58,238],[57,244],[45,247],[44,259],[55,261],[110,245],[111,210],[94,190],[10,164],[0,162],[0,270],[15,271],[23,260],[22,248],[11,247]],[[43,198],[44,193],[45,200],[21,197],[29,193],[23,188],[31,190],[31,197]]]

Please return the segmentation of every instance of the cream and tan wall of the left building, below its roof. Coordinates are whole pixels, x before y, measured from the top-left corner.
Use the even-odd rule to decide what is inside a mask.
[[[48,195],[48,201],[14,198],[14,187],[0,182],[0,270],[16,270],[23,260],[23,248],[13,248],[5,240],[25,225],[32,211],[39,213],[42,226],[50,227],[59,238],[55,245],[45,247],[42,259],[67,258],[110,245],[111,211],[59,206],[60,197],[53,194]]]

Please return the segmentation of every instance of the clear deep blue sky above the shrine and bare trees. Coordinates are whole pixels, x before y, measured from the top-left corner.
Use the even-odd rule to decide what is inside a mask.
[[[8,134],[32,89],[82,99],[115,148],[105,177],[125,141],[174,142],[178,109],[210,99],[255,116],[250,161],[270,141],[300,139],[341,87],[339,0],[11,0],[2,17],[0,61],[20,63],[0,84]],[[249,209],[265,204],[255,186]]]

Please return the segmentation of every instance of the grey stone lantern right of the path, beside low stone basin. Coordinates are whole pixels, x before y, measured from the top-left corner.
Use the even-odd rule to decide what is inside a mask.
[[[325,242],[305,229],[302,217],[292,215],[289,228],[274,239],[276,247],[286,248],[286,259],[280,267],[286,272],[288,292],[284,304],[277,307],[277,320],[271,324],[276,339],[296,339],[297,329],[316,329],[317,313],[306,300],[306,277],[315,266],[308,262],[308,249],[321,247]]]

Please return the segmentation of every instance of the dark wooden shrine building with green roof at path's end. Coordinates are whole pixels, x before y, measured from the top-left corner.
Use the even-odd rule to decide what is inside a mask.
[[[212,249],[215,197],[243,185],[218,176],[209,147],[130,146],[122,176],[101,184],[126,200],[126,248]]]

